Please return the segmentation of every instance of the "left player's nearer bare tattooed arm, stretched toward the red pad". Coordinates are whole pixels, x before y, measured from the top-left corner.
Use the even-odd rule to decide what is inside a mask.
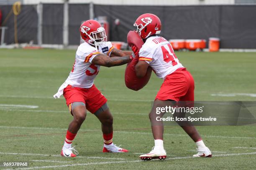
[[[92,64],[102,65],[105,67],[113,67],[118,65],[124,65],[128,62],[131,62],[132,59],[133,57],[131,55],[126,55],[124,57],[109,57],[105,54],[98,54],[93,58]]]

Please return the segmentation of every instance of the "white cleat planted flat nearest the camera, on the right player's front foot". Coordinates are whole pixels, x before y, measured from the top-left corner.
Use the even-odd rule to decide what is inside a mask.
[[[156,149],[153,147],[150,153],[141,155],[140,158],[141,160],[164,160],[166,158],[166,151],[164,149]]]

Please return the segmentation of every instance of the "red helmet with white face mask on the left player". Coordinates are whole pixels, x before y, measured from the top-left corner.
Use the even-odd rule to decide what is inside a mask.
[[[87,20],[80,26],[80,34],[91,45],[102,45],[107,41],[105,29],[95,20]]]

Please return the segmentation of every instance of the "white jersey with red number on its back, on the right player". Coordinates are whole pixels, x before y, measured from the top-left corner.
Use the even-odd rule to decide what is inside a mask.
[[[149,37],[142,45],[139,56],[139,60],[146,61],[159,78],[164,79],[183,67],[174,54],[172,45],[164,37]]]

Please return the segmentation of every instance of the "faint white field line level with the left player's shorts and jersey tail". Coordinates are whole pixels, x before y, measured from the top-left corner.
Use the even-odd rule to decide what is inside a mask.
[[[19,96],[19,95],[0,95],[0,97],[11,97],[11,98],[32,98],[32,99],[54,99],[54,97],[51,96]],[[64,99],[64,97],[61,97]],[[55,100],[55,99],[54,99]],[[129,100],[129,99],[108,99],[109,101],[121,101],[121,102],[153,102],[154,100]]]

